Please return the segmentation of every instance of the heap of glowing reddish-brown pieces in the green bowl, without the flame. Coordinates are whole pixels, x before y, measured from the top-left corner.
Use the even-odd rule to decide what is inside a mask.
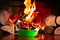
[[[30,23],[25,19],[23,19],[20,23],[18,23],[18,28],[20,29],[32,30],[32,29],[36,29],[37,27],[39,27],[37,23],[33,23],[33,22]]]

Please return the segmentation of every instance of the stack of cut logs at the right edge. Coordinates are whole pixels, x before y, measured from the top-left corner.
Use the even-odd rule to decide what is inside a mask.
[[[50,15],[45,19],[45,33],[60,35],[60,16]]]

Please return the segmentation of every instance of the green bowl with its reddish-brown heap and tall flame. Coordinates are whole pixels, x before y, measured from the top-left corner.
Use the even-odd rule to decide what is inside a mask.
[[[33,22],[34,15],[33,12],[36,9],[35,1],[31,3],[31,0],[25,0],[24,4],[26,8],[24,9],[24,15],[27,15],[19,23],[18,27],[20,30],[17,31],[19,36],[23,37],[33,37],[38,35],[39,26]]]

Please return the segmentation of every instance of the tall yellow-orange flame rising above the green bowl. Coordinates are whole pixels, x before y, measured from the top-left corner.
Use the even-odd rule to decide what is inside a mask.
[[[26,8],[24,9],[24,13],[27,15],[26,21],[31,22],[34,18],[34,16],[32,16],[32,13],[36,9],[35,1],[31,4],[31,0],[25,0],[24,4],[26,6]]]

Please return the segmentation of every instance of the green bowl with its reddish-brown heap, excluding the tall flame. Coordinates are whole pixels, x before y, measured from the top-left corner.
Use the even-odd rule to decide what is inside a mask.
[[[19,28],[17,31],[19,36],[33,37],[38,35],[40,25],[32,22],[27,23],[27,21],[22,20],[17,27]]]

